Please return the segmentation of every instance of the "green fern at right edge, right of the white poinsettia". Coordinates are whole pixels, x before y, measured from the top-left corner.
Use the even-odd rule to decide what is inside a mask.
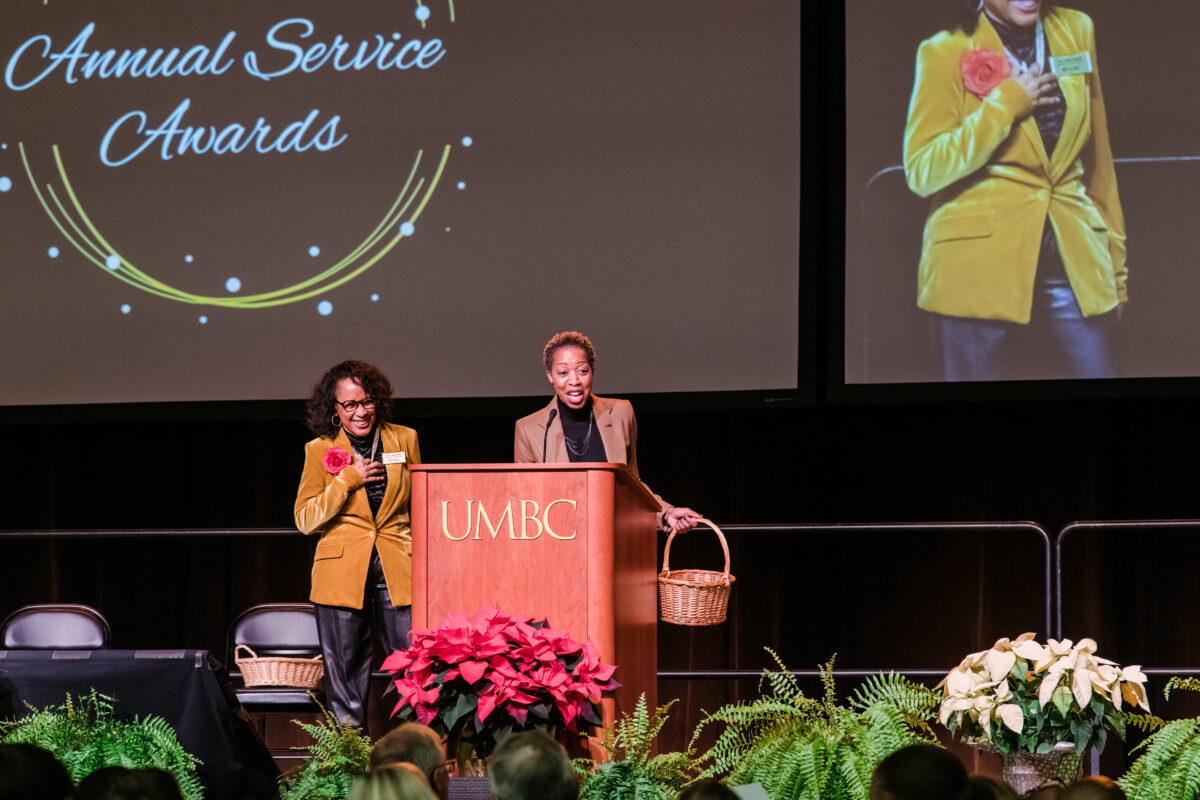
[[[1172,688],[1200,692],[1195,678],[1171,678],[1163,688],[1170,699]],[[1165,722],[1145,715],[1144,730],[1157,732],[1130,751],[1144,751],[1121,778],[1129,800],[1200,799],[1200,717]]]

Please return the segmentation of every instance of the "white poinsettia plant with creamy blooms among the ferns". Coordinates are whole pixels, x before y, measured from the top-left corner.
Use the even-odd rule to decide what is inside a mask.
[[[1150,711],[1146,675],[1138,666],[1096,655],[1096,642],[1000,639],[972,652],[938,684],[941,721],[972,744],[1002,753],[1046,753],[1070,741],[1082,753],[1104,750],[1109,732],[1124,739],[1123,705]]]

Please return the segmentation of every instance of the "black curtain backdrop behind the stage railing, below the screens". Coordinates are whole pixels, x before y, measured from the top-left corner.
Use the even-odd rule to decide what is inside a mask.
[[[407,414],[401,404],[397,417],[418,428],[428,462],[504,462],[512,420],[540,403],[504,401],[503,415],[484,408],[440,416]],[[719,524],[1030,519],[1052,536],[1073,519],[1200,516],[1188,468],[1200,445],[1190,398],[724,410],[672,410],[656,408],[662,398],[642,398],[636,405],[643,477]],[[290,527],[308,438],[299,403],[270,413],[218,410],[224,419],[156,419],[161,409],[148,409],[144,420],[95,410],[72,419],[56,409],[47,421],[30,413],[0,423],[8,452],[0,467],[4,528]],[[1027,540],[964,536],[956,547],[946,539],[836,534],[730,537],[738,578],[730,622],[661,626],[661,669],[760,669],[772,663],[766,646],[794,669],[812,669],[834,651],[842,667],[948,668],[1018,627],[1043,632],[1037,602],[1027,602],[1042,557]],[[242,608],[306,597],[312,543],[300,534],[0,539],[0,615],[31,602],[85,602],[109,616],[115,646],[221,652]],[[1180,548],[1147,546],[1134,570],[1120,547],[1103,559],[1079,558],[1086,575],[1074,585],[1139,596],[1153,583],[1147,565],[1156,558],[1190,558]],[[1031,566],[1022,572],[1026,552]],[[718,569],[719,561],[710,534],[672,548],[677,567]],[[901,583],[898,569],[906,573]],[[985,585],[982,573],[991,576]],[[938,613],[964,604],[961,614]],[[1120,619],[1106,612],[1103,627],[1144,630],[1154,618],[1145,606],[1108,602]],[[1014,607],[1021,610],[1004,612]],[[1178,638],[1151,638],[1150,651],[1112,655],[1186,666],[1166,663],[1187,656],[1171,640]],[[668,729],[672,744],[684,744],[701,709],[752,692],[754,684],[664,681],[662,700],[683,700]]]

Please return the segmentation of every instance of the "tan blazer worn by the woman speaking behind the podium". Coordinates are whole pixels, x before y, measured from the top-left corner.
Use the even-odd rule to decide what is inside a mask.
[[[550,411],[556,408],[557,399],[551,398],[546,408],[523,416],[517,420],[516,435],[512,439],[512,461],[518,464],[541,463],[541,445],[546,443],[546,463],[562,464],[570,461],[566,453],[566,437],[563,435],[563,421],[559,415],[550,421]],[[604,441],[604,452],[610,462],[625,464],[629,474],[636,481],[642,481],[637,474],[637,419],[634,416],[634,405],[625,399],[613,399],[611,397],[592,396],[592,409],[596,415],[596,428],[600,429],[600,439]],[[550,422],[550,432],[546,423]],[[646,486],[642,482],[642,486]],[[646,491],[654,494],[650,487]],[[670,511],[670,503],[654,494],[659,501],[662,513]],[[662,513],[659,515],[659,525],[662,524]]]

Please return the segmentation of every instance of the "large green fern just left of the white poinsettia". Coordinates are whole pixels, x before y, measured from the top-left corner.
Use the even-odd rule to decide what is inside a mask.
[[[796,675],[769,648],[779,672],[764,672],[766,692],[732,703],[696,727],[722,726],[697,759],[700,777],[728,775],[731,783],[761,783],[775,800],[866,800],[871,774],[896,750],[936,742],[930,720],[941,694],[895,673],[869,678],[838,704],[834,658],[821,667],[824,697],[805,697]]]

